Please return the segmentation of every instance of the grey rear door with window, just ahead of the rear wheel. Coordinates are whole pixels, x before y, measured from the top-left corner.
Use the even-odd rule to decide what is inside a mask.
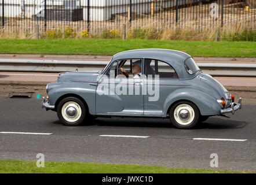
[[[144,63],[144,84],[147,84],[147,94],[144,95],[144,116],[161,117],[164,101],[171,92],[180,87],[180,80],[167,62],[145,59]],[[150,84],[150,80],[153,85]]]

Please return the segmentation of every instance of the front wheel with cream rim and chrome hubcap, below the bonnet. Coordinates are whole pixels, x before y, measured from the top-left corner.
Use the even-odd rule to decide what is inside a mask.
[[[80,99],[67,97],[58,103],[57,115],[64,125],[76,126],[85,120],[86,107]]]

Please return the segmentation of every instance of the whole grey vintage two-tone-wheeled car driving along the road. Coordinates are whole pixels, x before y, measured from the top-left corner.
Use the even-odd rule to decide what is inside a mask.
[[[170,118],[176,128],[192,128],[210,116],[242,108],[188,54],[140,49],[115,54],[103,71],[60,73],[46,86],[42,107],[57,112],[64,125],[95,117]]]

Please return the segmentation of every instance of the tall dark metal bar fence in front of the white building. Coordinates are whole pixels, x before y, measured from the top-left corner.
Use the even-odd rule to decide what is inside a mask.
[[[255,29],[255,0],[0,0],[2,32],[75,32],[95,37],[127,29]],[[51,33],[53,31],[53,33]]]

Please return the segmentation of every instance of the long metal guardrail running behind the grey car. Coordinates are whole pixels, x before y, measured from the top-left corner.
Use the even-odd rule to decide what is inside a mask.
[[[0,59],[0,71],[67,72],[100,71],[108,61],[18,60]],[[256,77],[256,64],[198,63],[203,72],[213,76]]]

